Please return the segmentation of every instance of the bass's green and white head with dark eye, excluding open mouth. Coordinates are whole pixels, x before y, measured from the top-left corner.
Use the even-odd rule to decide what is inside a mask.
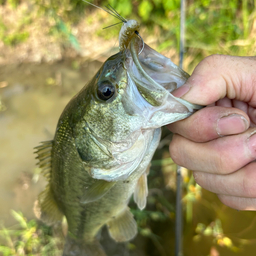
[[[152,137],[142,131],[145,119],[135,101],[148,103],[130,86],[126,61],[126,51],[108,58],[64,111],[84,167],[96,179],[125,179]]]

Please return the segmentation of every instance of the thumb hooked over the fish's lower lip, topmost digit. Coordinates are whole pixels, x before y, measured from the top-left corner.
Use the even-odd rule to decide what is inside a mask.
[[[256,107],[256,57],[211,55],[173,95],[199,105],[227,97]]]

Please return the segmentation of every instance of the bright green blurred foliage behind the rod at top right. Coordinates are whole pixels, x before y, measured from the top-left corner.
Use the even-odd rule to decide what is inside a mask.
[[[179,47],[179,0],[108,2],[123,17],[141,21],[147,34],[158,31],[161,38],[158,50]],[[106,1],[94,3],[104,6]],[[188,68],[210,54],[253,55],[255,40],[250,34],[255,17],[255,0],[187,1],[185,45],[192,59]]]

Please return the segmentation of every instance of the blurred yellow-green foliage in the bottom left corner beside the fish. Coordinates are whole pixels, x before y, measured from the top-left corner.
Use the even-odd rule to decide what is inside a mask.
[[[56,256],[60,250],[60,239],[52,237],[52,228],[39,224],[36,220],[27,221],[22,213],[11,211],[17,221],[13,228],[0,230],[0,238],[4,245],[0,245],[0,254],[12,255],[42,255]]]

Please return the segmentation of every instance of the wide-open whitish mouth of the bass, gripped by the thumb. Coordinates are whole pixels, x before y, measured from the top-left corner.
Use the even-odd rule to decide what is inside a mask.
[[[132,86],[136,86],[144,101],[150,104],[147,126],[160,127],[184,119],[202,108],[171,94],[187,81],[189,75],[141,38],[132,38],[126,56],[125,66]],[[157,121],[160,116],[161,121]]]

